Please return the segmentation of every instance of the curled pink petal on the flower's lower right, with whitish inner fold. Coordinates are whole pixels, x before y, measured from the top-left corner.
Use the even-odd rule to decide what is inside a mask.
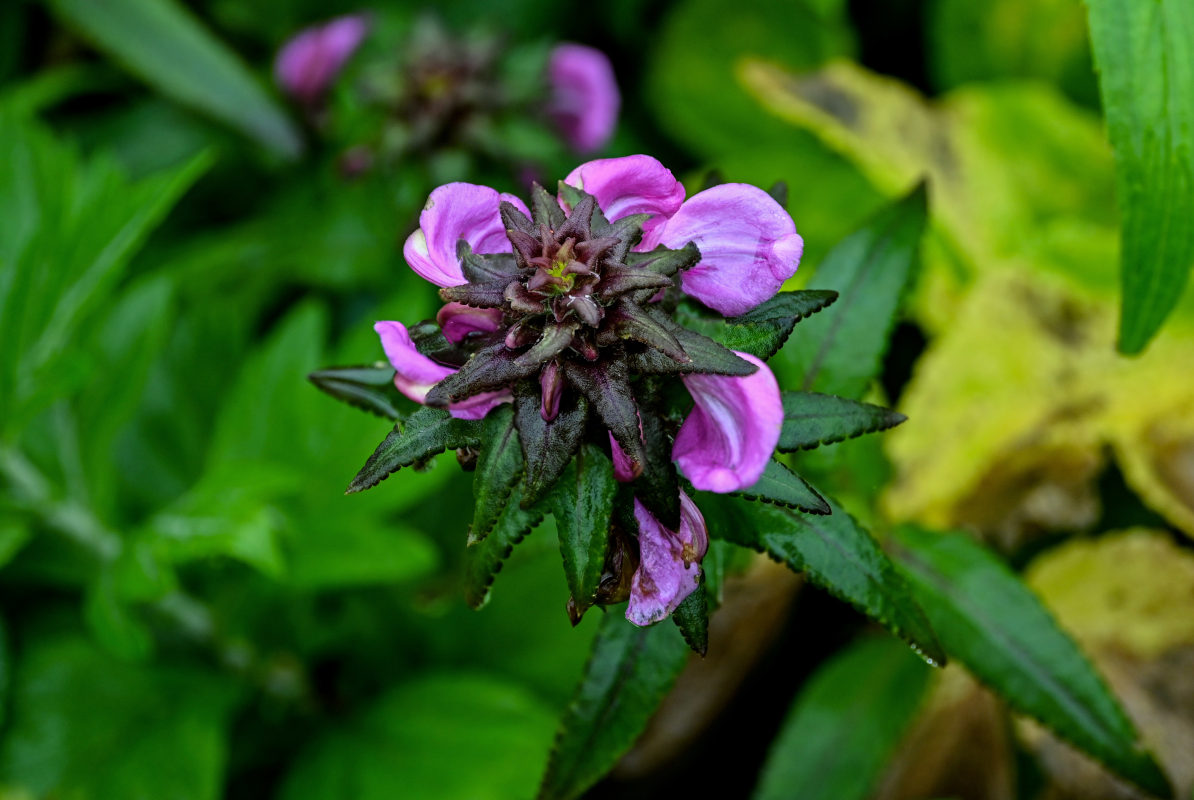
[[[695,405],[676,435],[672,459],[693,486],[707,492],[752,486],[780,442],[780,384],[762,361],[744,352],[738,356],[758,365],[758,371],[743,377],[684,376]]]

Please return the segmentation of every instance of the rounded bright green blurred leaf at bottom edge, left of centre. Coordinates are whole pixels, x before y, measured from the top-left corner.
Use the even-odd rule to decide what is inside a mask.
[[[527,798],[553,725],[550,709],[507,681],[427,675],[389,690],[318,739],[295,761],[279,796]]]

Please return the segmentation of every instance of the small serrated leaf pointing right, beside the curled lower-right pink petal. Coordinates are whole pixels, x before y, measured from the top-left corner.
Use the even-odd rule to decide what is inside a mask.
[[[776,449],[790,453],[844,442],[896,427],[905,419],[901,413],[869,402],[814,392],[784,392],[783,429]]]

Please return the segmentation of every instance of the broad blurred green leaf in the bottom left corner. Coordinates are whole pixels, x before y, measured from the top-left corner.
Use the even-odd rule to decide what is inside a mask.
[[[38,639],[17,664],[0,774],[35,796],[216,800],[232,700],[205,675]]]

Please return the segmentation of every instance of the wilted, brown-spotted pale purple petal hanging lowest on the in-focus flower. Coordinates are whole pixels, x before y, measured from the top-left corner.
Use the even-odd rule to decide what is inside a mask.
[[[700,585],[709,535],[701,510],[683,492],[679,530],[664,528],[639,498],[634,498],[634,518],[639,522],[639,568],[630,581],[626,619],[646,626],[666,619]]]

